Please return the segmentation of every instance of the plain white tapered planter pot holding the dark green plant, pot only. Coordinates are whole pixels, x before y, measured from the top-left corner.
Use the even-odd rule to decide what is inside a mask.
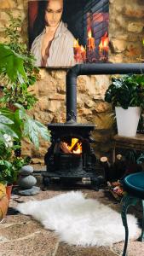
[[[128,109],[124,109],[121,107],[116,107],[115,111],[118,135],[124,137],[135,137],[140,119],[141,108],[129,107]]]

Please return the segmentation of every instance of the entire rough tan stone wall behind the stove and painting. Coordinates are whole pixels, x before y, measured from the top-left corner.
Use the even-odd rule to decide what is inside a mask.
[[[21,37],[27,42],[27,0],[1,0],[0,38],[3,42],[4,26],[7,26],[11,11],[15,17],[21,16],[23,26]],[[141,62],[142,38],[144,38],[144,6],[141,0],[110,0],[109,61]],[[41,68],[41,79],[33,90],[38,102],[31,113],[34,118],[47,125],[49,122],[66,121],[66,70]],[[108,76],[81,76],[78,78],[78,122],[93,123],[95,153],[109,155],[112,148],[112,109],[104,102],[104,94],[110,84]],[[34,163],[43,162],[48,143],[42,142],[39,151],[26,141],[23,154],[30,154]]]

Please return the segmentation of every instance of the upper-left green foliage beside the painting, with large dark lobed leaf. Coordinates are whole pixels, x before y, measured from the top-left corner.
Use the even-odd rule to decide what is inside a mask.
[[[7,41],[0,44],[0,78],[3,85],[3,97],[0,102],[4,106],[17,102],[29,109],[37,102],[37,98],[32,94],[31,85],[38,79],[39,70],[34,66],[33,55],[21,40],[20,18],[14,18],[10,14],[9,18],[9,26],[5,29]],[[16,58],[14,53],[17,55]]]

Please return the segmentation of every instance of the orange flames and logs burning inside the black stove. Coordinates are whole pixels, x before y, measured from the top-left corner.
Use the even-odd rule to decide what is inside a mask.
[[[70,154],[81,154],[82,153],[82,143],[79,142],[78,138],[72,138],[71,145],[68,143],[62,143],[65,148],[67,148]]]

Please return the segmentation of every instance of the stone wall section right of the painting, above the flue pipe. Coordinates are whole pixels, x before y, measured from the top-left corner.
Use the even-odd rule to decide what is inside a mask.
[[[110,0],[109,37],[110,61],[141,61],[144,38],[144,5],[141,0]]]

